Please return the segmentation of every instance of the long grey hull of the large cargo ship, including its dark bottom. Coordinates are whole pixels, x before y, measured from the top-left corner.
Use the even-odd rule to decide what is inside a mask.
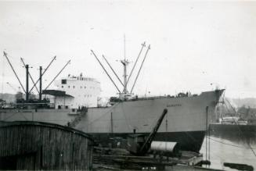
[[[98,141],[111,136],[150,134],[164,109],[168,113],[157,130],[156,141],[175,141],[182,150],[199,151],[208,123],[215,118],[215,106],[222,91],[207,91],[198,96],[161,97],[117,102],[105,108],[88,108],[83,116],[72,115],[70,109],[0,109],[0,120],[32,120],[69,125],[92,134]],[[77,119],[79,117],[79,119]]]

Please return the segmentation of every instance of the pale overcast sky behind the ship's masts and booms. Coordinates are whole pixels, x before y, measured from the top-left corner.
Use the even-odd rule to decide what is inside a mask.
[[[33,67],[36,80],[38,67],[56,55],[43,87],[71,59],[59,78],[83,73],[101,82],[103,96],[116,94],[90,49],[102,62],[105,55],[122,77],[117,60],[124,58],[124,34],[128,71],[142,42],[151,46],[135,94],[198,94],[218,86],[227,97],[256,98],[256,2],[0,2],[0,50],[8,53],[23,84],[20,57]],[[15,93],[6,82],[16,89],[19,83],[1,56],[1,92]],[[135,74],[128,87],[134,79]]]

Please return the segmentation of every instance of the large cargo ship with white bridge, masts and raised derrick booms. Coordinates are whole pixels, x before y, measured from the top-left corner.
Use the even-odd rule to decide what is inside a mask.
[[[149,49],[150,46],[147,48],[146,54]],[[93,51],[92,54],[95,55]],[[142,63],[145,58],[146,55]],[[97,60],[99,61],[99,59]],[[160,113],[163,109],[168,109],[168,114],[160,125],[154,141],[177,142],[181,145],[182,150],[199,152],[208,123],[213,119],[211,116],[214,116],[215,107],[224,90],[205,91],[198,95],[179,93],[175,96],[138,97],[127,88],[129,78],[126,66],[128,61],[124,59],[121,60],[121,63],[124,66],[123,91],[119,91],[118,97],[110,98],[110,102],[106,106],[86,106],[78,103],[72,105],[72,102],[75,102],[72,99],[81,95],[87,86],[84,85],[86,81],[82,81],[85,78],[73,77],[72,81],[62,79],[59,84],[60,90],[45,91],[45,94],[52,95],[54,99],[48,109],[41,109],[37,107],[38,105],[31,104],[27,104],[27,106],[32,107],[0,109],[0,120],[34,120],[73,126],[85,133],[92,134],[98,142],[106,142],[110,137],[125,139],[128,134],[150,134]],[[132,72],[130,76],[131,74]],[[109,74],[107,75],[109,76]],[[138,76],[139,73],[136,79]],[[78,81],[79,86],[76,86]],[[132,89],[134,85],[135,83]],[[65,88],[70,88],[68,94]],[[74,94],[73,89],[75,88],[79,88],[78,92],[81,93]],[[119,89],[117,88],[117,90]],[[76,102],[82,102],[82,100]],[[38,104],[40,105],[40,103]]]

